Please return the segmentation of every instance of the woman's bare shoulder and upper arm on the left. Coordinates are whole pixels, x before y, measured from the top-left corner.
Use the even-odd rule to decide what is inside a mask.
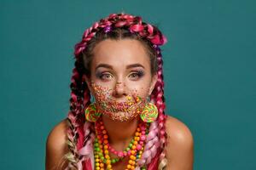
[[[45,167],[47,170],[61,169],[67,154],[67,119],[59,122],[49,133],[46,142]]]

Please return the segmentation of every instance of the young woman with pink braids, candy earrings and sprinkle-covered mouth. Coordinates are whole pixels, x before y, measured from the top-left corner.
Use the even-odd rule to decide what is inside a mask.
[[[75,46],[67,119],[49,133],[46,169],[193,168],[193,138],[165,113],[160,30],[111,14]]]

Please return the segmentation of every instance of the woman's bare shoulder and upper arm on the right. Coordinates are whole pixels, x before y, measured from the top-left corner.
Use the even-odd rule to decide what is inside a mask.
[[[192,170],[194,141],[189,127],[177,118],[168,116],[166,119],[166,158],[167,169]]]

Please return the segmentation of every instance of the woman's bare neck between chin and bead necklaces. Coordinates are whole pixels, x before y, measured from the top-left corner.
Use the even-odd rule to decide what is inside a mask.
[[[102,122],[108,132],[109,143],[113,144],[119,150],[127,146],[131,139],[134,137],[134,133],[137,130],[139,117],[137,116],[129,122],[116,122],[108,116],[102,116]]]

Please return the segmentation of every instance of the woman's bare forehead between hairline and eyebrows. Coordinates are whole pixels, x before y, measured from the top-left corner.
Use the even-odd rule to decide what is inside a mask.
[[[104,40],[93,49],[91,67],[98,64],[108,64],[123,67],[131,64],[141,64],[150,67],[150,59],[143,42],[131,39]]]

